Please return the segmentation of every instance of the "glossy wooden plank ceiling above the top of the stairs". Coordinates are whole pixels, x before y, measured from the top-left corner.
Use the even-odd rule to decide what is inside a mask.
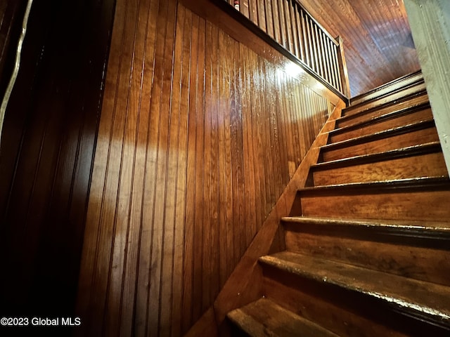
[[[352,96],[420,69],[403,0],[300,0],[344,39]]]

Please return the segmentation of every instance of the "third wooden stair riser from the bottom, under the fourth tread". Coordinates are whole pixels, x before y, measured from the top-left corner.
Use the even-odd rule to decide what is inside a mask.
[[[445,177],[333,186],[302,190],[302,215],[434,221],[449,218],[450,208],[442,207],[442,200],[450,195]]]

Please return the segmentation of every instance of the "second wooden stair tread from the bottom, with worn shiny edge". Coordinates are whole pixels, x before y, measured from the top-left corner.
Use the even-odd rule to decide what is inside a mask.
[[[413,317],[450,326],[450,289],[447,286],[290,251],[262,256],[259,261],[316,282],[378,298]]]

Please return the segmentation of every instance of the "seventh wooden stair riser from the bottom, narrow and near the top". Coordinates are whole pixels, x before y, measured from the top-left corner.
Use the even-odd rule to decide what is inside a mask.
[[[360,112],[359,114],[351,114],[345,117],[341,117],[336,119],[336,127],[343,128],[345,126],[351,126],[357,123],[361,123],[361,121],[369,121],[374,117],[383,116],[383,114],[389,114],[392,112],[404,110],[411,107],[417,107],[420,105],[429,105],[428,103],[428,95],[424,93],[423,95],[418,95],[417,97],[412,98],[411,100],[405,100],[396,105],[390,105],[387,107],[378,107],[371,110],[365,110],[364,112]]]

